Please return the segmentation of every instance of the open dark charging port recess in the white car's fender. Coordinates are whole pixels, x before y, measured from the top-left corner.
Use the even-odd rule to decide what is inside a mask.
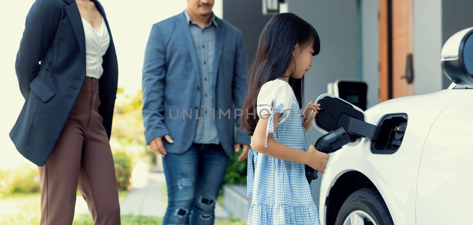
[[[381,128],[376,140],[371,140],[371,152],[393,154],[401,146],[407,128],[407,114],[388,114],[379,121]]]

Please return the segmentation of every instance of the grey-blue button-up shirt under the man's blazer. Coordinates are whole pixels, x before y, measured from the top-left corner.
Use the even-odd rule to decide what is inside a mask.
[[[215,87],[212,87],[213,58],[215,55],[215,27],[218,26],[215,16],[212,15],[210,23],[203,29],[192,22],[191,17],[184,10],[185,17],[189,22],[195,51],[199,62],[201,81],[201,105],[198,110],[197,128],[194,143],[219,144],[217,125],[214,120]],[[218,113],[218,111],[217,111]]]

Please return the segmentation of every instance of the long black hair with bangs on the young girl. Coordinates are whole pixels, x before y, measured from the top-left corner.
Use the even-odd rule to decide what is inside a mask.
[[[248,73],[248,88],[243,103],[243,115],[240,117],[241,129],[253,135],[258,115],[256,100],[264,83],[281,77],[294,59],[292,52],[299,43],[303,48],[312,44],[314,56],[320,51],[319,35],[315,28],[299,16],[292,13],[281,13],[273,16],[264,26],[258,43],[258,50],[251,69]],[[302,108],[304,96],[304,77],[294,79],[289,77],[289,85]],[[248,113],[255,113],[249,117]]]

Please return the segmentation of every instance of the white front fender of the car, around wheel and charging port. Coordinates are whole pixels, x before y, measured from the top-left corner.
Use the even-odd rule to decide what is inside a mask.
[[[364,174],[381,193],[394,224],[415,224],[415,194],[420,156],[429,130],[437,116],[463,90],[442,90],[420,96],[395,98],[368,109],[366,121],[378,124],[386,114],[407,113],[403,143],[394,154],[373,154],[371,139],[332,153],[320,187],[319,213],[325,222],[325,199],[338,177],[348,171]],[[334,193],[336,194],[336,193]]]

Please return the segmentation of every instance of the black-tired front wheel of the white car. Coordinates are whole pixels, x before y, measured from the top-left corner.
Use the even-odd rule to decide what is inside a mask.
[[[363,188],[350,194],[335,220],[335,225],[359,224],[394,225],[386,203],[376,188]]]

